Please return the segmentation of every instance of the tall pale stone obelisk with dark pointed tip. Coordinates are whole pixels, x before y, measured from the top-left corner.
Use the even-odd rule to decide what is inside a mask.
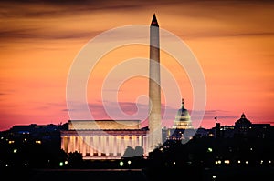
[[[150,71],[149,71],[149,147],[151,152],[162,144],[161,127],[161,84],[160,84],[160,46],[159,25],[156,15],[150,26]]]

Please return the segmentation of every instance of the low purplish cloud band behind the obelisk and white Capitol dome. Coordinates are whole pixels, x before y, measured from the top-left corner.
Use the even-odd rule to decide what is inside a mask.
[[[76,104],[76,109],[70,109],[69,111],[81,111],[82,105]],[[134,102],[111,102],[106,101],[102,105],[101,103],[92,103],[89,104],[90,113],[95,119],[139,119],[145,121],[148,117],[148,105]],[[177,110],[179,108],[174,108],[171,106],[162,105],[162,115],[164,121],[173,121]],[[63,111],[68,111],[68,109],[63,109]],[[192,111],[188,110],[191,114],[192,120],[195,119],[201,114],[204,114],[203,120],[215,121],[215,117],[217,116],[218,120],[227,120],[234,119],[236,120],[239,116],[231,116],[231,112],[227,110],[205,110],[205,111]]]

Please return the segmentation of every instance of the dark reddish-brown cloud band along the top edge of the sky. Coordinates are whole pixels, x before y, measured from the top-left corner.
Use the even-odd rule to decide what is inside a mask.
[[[93,0],[68,0],[64,2],[63,0],[3,0],[0,5],[4,7],[5,10],[1,11],[0,15],[2,17],[34,17],[34,18],[42,18],[48,16],[57,16],[57,15],[79,15],[83,13],[92,13],[94,11],[119,11],[119,10],[138,10],[141,9],[158,9],[160,6],[168,6],[174,5],[179,7],[182,5],[183,7],[186,5],[193,5],[193,8],[201,8],[204,7],[205,11],[211,11],[211,14],[203,14],[212,15],[212,12],[221,11],[222,7],[227,6],[237,6],[237,5],[264,5],[270,4],[273,2],[270,0],[267,1],[220,1],[220,0],[158,0],[158,1],[139,1],[139,0],[103,0],[103,1],[93,1]],[[22,10],[22,7],[24,9]],[[214,10],[214,11],[212,11]],[[132,12],[133,13],[133,12]],[[171,14],[173,12],[170,12]],[[191,11],[187,11],[188,15],[192,16],[200,16],[199,14],[191,13]],[[134,15],[133,15],[134,16]],[[132,17],[133,18],[133,17]]]

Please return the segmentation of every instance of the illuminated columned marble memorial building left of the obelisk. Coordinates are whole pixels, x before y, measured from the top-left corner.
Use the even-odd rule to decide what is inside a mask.
[[[147,129],[138,120],[69,120],[61,131],[61,148],[78,151],[84,159],[120,159],[127,146],[142,146],[146,153]]]

